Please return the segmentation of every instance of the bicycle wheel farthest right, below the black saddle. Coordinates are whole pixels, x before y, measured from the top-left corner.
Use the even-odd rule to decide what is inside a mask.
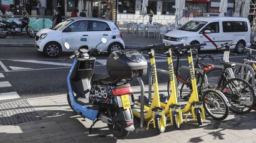
[[[234,113],[249,113],[255,105],[255,93],[252,86],[241,78],[226,81],[221,92],[228,98],[230,110]]]

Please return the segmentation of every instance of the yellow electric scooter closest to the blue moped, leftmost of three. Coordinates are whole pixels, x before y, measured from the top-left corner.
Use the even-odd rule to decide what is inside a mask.
[[[143,47],[138,49],[139,51],[148,51],[148,55],[150,57],[150,64],[151,64],[151,73],[152,73],[152,81],[153,81],[153,88],[154,88],[154,97],[151,103],[148,105],[141,104],[137,102],[137,104],[132,107],[132,113],[134,116],[137,116],[142,119],[141,115],[143,115],[143,120],[148,121],[147,129],[150,123],[153,123],[154,128],[158,127],[159,131],[163,133],[166,127],[166,116],[164,115],[163,107],[160,105],[160,96],[158,91],[158,79],[156,74],[156,62],[155,62],[155,51],[156,48],[164,47],[165,44],[159,45],[151,45],[147,47]],[[172,47],[172,46],[170,46]],[[140,83],[141,85],[143,84]],[[142,98],[144,100],[144,97]],[[140,110],[144,108],[145,110]],[[141,114],[143,112],[143,114]]]

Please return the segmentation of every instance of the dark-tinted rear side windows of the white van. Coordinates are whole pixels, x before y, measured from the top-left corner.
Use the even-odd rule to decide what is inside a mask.
[[[246,22],[223,22],[223,32],[246,32]]]

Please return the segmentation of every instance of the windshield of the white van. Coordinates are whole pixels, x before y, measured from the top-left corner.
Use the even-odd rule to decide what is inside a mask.
[[[182,25],[182,27],[180,27],[178,30],[194,31],[195,32],[195,31],[200,30],[206,24],[207,24],[207,22],[192,20],[192,21],[187,22],[186,24]]]

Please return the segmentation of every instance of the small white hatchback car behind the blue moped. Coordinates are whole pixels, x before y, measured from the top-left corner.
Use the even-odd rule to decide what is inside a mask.
[[[103,37],[108,42],[99,44]],[[65,42],[75,50],[80,46],[92,49],[99,44],[97,49],[108,53],[125,47],[117,25],[101,18],[74,17],[59,23],[53,29],[46,28],[36,33],[36,49],[48,57],[58,57],[61,52],[72,51],[64,47]]]

